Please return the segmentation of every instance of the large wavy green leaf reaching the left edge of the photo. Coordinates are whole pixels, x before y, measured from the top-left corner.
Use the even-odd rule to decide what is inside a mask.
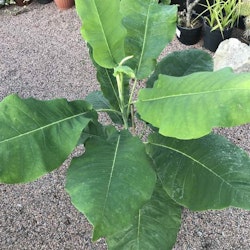
[[[0,182],[32,181],[59,167],[90,121],[91,109],[84,101],[6,97],[0,103]]]

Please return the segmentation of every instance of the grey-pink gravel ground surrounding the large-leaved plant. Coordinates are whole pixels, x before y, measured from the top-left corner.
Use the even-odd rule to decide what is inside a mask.
[[[33,2],[14,15],[20,9],[0,9],[0,100],[10,93],[73,100],[98,89],[75,9],[60,11],[53,2]],[[186,48],[174,40],[165,53]],[[249,129],[246,125],[219,132],[250,152]],[[1,250],[106,249],[104,240],[91,243],[91,225],[64,192],[67,164],[30,184],[0,185]],[[249,222],[250,212],[240,209],[184,209],[174,249],[248,250]]]

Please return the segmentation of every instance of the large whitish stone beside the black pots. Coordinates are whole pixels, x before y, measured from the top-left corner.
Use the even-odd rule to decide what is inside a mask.
[[[220,43],[214,54],[214,70],[231,67],[234,72],[250,72],[250,46],[236,38]]]

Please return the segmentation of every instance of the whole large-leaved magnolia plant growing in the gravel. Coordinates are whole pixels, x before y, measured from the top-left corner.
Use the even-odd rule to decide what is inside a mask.
[[[84,145],[66,191],[110,249],[171,249],[183,207],[250,209],[250,158],[212,132],[250,121],[250,74],[211,72],[199,50],[157,63],[175,35],[176,6],[76,0],[76,9],[101,90],[71,102],[4,98],[0,181],[33,181]]]

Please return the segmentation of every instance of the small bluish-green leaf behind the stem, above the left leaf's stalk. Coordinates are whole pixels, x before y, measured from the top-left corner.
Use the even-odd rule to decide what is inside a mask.
[[[85,100],[93,105],[97,111],[105,111],[114,123],[123,124],[120,112],[114,110],[101,91],[91,92]]]

